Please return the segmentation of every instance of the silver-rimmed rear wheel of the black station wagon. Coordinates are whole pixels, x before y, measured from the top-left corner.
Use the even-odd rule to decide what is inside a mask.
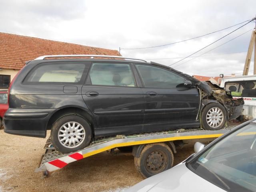
[[[59,135],[63,136],[59,137]],[[63,116],[56,120],[52,126],[52,144],[56,150],[62,153],[70,153],[85,148],[90,143],[91,138],[90,125],[84,118],[77,115]]]

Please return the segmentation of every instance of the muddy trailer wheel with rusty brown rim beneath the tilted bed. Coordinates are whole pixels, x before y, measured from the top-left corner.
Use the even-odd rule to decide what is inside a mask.
[[[136,170],[148,178],[173,166],[174,156],[172,150],[165,143],[147,144],[139,157],[134,157]]]

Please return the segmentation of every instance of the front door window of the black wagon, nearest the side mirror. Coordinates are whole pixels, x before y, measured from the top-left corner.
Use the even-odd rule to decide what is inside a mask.
[[[177,88],[185,82],[183,77],[162,68],[147,65],[136,67],[147,88]]]

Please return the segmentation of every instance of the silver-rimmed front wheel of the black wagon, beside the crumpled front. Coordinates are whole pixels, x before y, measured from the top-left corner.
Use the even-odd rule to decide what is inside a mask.
[[[222,129],[227,122],[226,109],[219,103],[206,105],[202,110],[201,122],[205,130]]]

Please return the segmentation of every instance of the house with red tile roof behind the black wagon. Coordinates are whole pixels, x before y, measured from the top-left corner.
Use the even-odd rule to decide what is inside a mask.
[[[117,50],[0,32],[0,89],[8,89],[10,81],[26,61],[43,55],[62,54],[120,56]]]

